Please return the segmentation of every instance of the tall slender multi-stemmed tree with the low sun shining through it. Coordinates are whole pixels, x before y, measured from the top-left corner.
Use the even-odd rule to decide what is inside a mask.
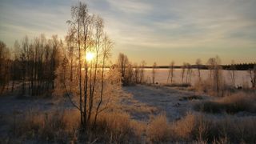
[[[86,130],[91,124],[90,120],[93,119],[94,122],[92,124],[94,124],[97,120],[98,113],[102,111],[105,84],[103,80],[105,78],[104,67],[106,65],[106,59],[109,58],[110,48],[113,43],[109,38],[104,36],[103,19],[99,16],[89,14],[85,3],[79,2],[78,5],[72,6],[71,17],[72,20],[67,21],[70,24],[68,36],[66,37],[67,53],[72,54],[69,60],[70,70],[77,69],[78,71],[78,89],[72,90],[70,88],[69,91],[66,89],[68,82],[63,82],[63,85],[68,98],[70,98],[72,104],[80,111],[82,130]],[[85,56],[91,53],[94,54],[94,58],[86,59]],[[77,58],[76,62],[74,62],[75,58]],[[103,63],[102,65],[101,62]],[[78,66],[76,67],[73,63],[78,63]],[[100,68],[102,68],[102,72]],[[122,67],[123,69],[126,70],[126,66]],[[126,71],[123,72],[125,78]],[[70,82],[72,85],[75,83],[73,82],[73,75],[73,72],[70,72],[69,82],[72,81]],[[98,93],[97,90],[102,92]],[[78,94],[78,101],[72,98],[73,94]]]

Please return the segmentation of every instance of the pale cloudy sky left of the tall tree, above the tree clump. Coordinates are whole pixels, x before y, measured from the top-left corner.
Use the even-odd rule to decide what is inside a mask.
[[[63,38],[66,34],[70,6],[53,6],[49,1],[3,1],[0,7],[0,39],[8,46],[25,35],[58,34]]]

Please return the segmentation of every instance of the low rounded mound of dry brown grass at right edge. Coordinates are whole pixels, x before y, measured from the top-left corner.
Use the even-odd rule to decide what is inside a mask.
[[[214,101],[198,103],[194,106],[194,109],[207,113],[226,112],[228,114],[235,114],[240,111],[256,113],[256,97],[254,94],[232,94]]]

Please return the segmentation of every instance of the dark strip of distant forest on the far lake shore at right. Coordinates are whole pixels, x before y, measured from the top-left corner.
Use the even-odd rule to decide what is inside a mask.
[[[251,70],[254,68],[254,65],[256,65],[256,62],[254,63],[238,63],[234,65],[222,65],[223,70],[231,70],[232,67],[235,68],[235,70]],[[209,70],[208,65],[200,65],[201,70]],[[144,66],[144,68],[151,69],[153,66]],[[168,69],[170,66],[157,66],[158,69]],[[191,68],[198,69],[198,65],[191,65]],[[174,66],[174,69],[182,69],[182,66]]]

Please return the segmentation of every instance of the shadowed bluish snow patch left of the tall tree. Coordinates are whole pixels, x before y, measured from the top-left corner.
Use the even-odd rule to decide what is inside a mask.
[[[54,110],[70,110],[74,106],[66,98],[18,98],[15,94],[0,97],[0,139],[9,134],[14,119],[24,118],[30,112],[48,113]],[[1,142],[0,142],[1,143]]]

